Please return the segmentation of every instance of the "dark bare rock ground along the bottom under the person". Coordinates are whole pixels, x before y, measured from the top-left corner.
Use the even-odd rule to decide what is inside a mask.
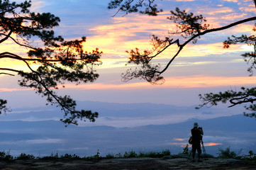
[[[11,163],[0,162],[0,169],[256,169],[256,166],[245,164],[242,160],[219,158],[209,158],[203,162],[191,162],[191,159],[185,158],[116,158],[97,162],[75,159],[30,159]]]

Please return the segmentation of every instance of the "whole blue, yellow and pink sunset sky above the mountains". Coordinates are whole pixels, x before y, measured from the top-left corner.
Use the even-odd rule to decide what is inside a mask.
[[[17,2],[21,2],[18,0]],[[167,20],[169,11],[176,7],[187,12],[202,14],[211,28],[226,26],[243,18],[255,16],[255,6],[249,0],[165,0],[159,7],[164,10],[159,16],[144,16],[138,13],[124,15],[107,8],[107,0],[33,0],[30,11],[50,12],[59,16],[60,26],[56,35],[67,40],[87,37],[85,50],[96,47],[103,51],[101,64],[96,67],[100,77],[90,84],[69,84],[59,94],[68,94],[78,101],[103,101],[110,103],[165,103],[176,106],[200,104],[198,95],[208,92],[238,90],[240,86],[254,86],[256,80],[248,77],[247,64],[240,56],[252,50],[247,45],[233,45],[223,49],[222,42],[230,35],[252,34],[253,23],[245,23],[228,30],[204,35],[194,45],[189,44],[163,74],[165,84],[152,85],[144,80],[121,81],[121,74],[133,66],[126,66],[126,50],[150,50],[150,35],[163,37],[175,24]],[[13,51],[15,49],[15,51]],[[155,63],[164,65],[172,56],[166,50]],[[26,49],[11,41],[1,44],[1,52],[11,51],[26,55]],[[2,60],[0,67],[24,69],[19,62]],[[18,76],[0,76],[0,96],[7,99],[12,108],[44,106],[45,99],[32,89],[21,88]],[[25,96],[25,97],[24,97]]]

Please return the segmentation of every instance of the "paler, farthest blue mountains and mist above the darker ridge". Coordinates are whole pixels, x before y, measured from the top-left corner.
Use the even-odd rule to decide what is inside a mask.
[[[108,125],[113,127],[136,127],[142,125],[166,125],[182,123],[191,118],[205,120],[243,113],[243,107],[234,108],[201,108],[195,106],[172,106],[153,103],[104,103],[95,101],[78,101],[79,109],[99,112],[96,123],[80,123],[80,125]],[[13,108],[1,120],[60,120],[63,113],[53,106],[39,108]]]

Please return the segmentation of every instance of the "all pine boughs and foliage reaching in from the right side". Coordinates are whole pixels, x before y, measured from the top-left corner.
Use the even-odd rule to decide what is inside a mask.
[[[123,1],[111,1],[112,5],[115,4],[114,8],[119,8],[119,11],[126,11],[126,13],[130,13],[129,9],[132,8],[134,1],[126,1],[124,4],[128,4],[127,8],[122,7]],[[156,1],[150,1],[150,3],[156,3]],[[256,1],[253,1],[256,7]],[[157,5],[155,4],[157,7]],[[136,10],[132,12],[137,12]],[[142,6],[139,6],[142,7]],[[157,10],[156,10],[157,11]],[[159,11],[159,10],[158,10]],[[157,13],[155,13],[157,15]],[[150,15],[150,14],[148,14]],[[156,16],[155,15],[155,16]],[[136,69],[128,69],[125,74],[122,74],[123,81],[129,81],[130,79],[139,78],[145,79],[149,81],[151,84],[162,84],[165,80],[162,77],[162,73],[164,73],[169,66],[172,64],[174,59],[179,55],[179,52],[183,50],[183,48],[192,42],[196,44],[196,42],[201,38],[201,36],[218,32],[221,30],[226,30],[233,26],[238,26],[240,24],[246,23],[248,21],[255,21],[256,16],[251,18],[244,18],[240,21],[236,21],[234,23],[230,23],[226,26],[222,26],[220,28],[210,28],[210,25],[207,23],[207,20],[204,16],[199,15],[196,16],[194,13],[187,13],[186,11],[182,11],[179,8],[176,8],[175,11],[170,11],[170,16],[167,18],[168,21],[172,21],[176,23],[176,28],[172,31],[169,31],[168,35],[165,38],[160,39],[157,35],[152,35],[151,43],[152,50],[144,50],[141,52],[138,48],[135,50],[130,50],[128,54],[130,55],[128,64],[136,64],[140,68]],[[253,28],[256,30],[256,28]],[[177,38],[178,37],[178,38]],[[174,39],[176,38],[176,39]],[[244,43],[247,45],[252,45],[254,47],[253,52],[246,52],[243,54],[243,58],[247,64],[249,64],[249,68],[247,69],[250,72],[250,76],[253,74],[253,70],[256,68],[256,38],[255,35],[241,35],[240,37],[236,37],[232,35],[231,38],[228,38],[225,42],[223,42],[224,48],[229,48],[230,45],[234,45],[237,43]],[[154,59],[160,57],[162,52],[167,50],[170,47],[177,47],[177,51],[174,54],[170,54],[169,61],[161,68],[160,64],[154,64]],[[249,106],[245,106],[248,111],[252,111],[252,113],[244,113],[247,116],[256,117],[256,105],[253,104],[256,101],[256,88],[245,88],[242,87],[241,91],[224,91],[219,94],[204,94],[199,95],[199,98],[202,101],[202,104],[198,107],[202,106],[216,106],[219,102],[222,103],[230,103],[230,107],[236,106],[242,103],[249,103]]]

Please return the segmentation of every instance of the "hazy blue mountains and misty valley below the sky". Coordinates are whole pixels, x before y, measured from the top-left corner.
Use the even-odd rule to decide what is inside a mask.
[[[11,154],[118,154],[126,151],[182,152],[188,143],[194,122],[204,128],[204,146],[208,154],[218,148],[256,148],[256,120],[227,108],[178,107],[152,103],[101,103],[84,101],[79,107],[99,111],[96,123],[80,123],[65,128],[56,108],[16,108],[0,117],[0,151]],[[238,111],[236,111],[238,112]],[[223,115],[226,115],[223,117]]]

